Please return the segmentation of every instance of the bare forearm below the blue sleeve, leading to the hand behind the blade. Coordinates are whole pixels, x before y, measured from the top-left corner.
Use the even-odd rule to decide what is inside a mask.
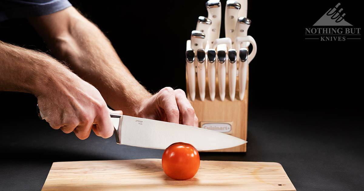
[[[110,41],[94,24],[74,8],[64,11],[68,12],[65,18],[69,20],[63,24],[67,25],[64,27],[67,30],[60,28],[50,31],[36,27],[39,33],[48,31],[41,36],[52,53],[70,64],[77,75],[98,88],[106,103],[114,110],[136,115],[138,106],[151,96],[150,93],[131,75]],[[52,20],[52,16],[49,19]]]

